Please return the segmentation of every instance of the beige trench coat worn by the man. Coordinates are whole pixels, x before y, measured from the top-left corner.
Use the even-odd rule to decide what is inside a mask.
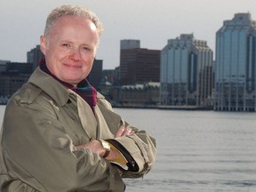
[[[0,146],[1,192],[124,191],[116,167],[91,150],[75,146],[90,138],[113,139],[121,116],[98,93],[95,116],[75,92],[40,68],[9,101],[5,109]],[[139,172],[122,177],[139,178],[155,163],[156,140],[132,127],[135,135],[120,137]]]

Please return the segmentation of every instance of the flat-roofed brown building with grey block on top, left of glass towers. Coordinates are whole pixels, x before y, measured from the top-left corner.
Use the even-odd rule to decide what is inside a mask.
[[[160,51],[140,48],[139,40],[121,40],[119,84],[159,82]]]

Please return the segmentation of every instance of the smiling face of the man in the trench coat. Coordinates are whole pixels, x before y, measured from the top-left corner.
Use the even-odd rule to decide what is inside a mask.
[[[99,41],[91,20],[62,16],[48,36],[41,36],[41,51],[51,73],[76,86],[90,73]]]

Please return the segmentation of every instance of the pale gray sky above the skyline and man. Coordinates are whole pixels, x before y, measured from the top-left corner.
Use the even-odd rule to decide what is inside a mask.
[[[26,62],[39,44],[48,14],[62,4],[95,12],[105,31],[96,59],[104,69],[119,66],[120,40],[140,40],[140,48],[162,50],[168,39],[194,34],[215,52],[215,34],[235,13],[250,12],[255,0],[0,0],[0,60]]]

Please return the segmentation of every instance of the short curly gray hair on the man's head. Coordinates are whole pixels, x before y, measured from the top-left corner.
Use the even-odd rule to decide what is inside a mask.
[[[60,17],[64,15],[71,15],[71,16],[79,16],[84,17],[88,20],[92,20],[94,25],[97,28],[99,36],[103,33],[103,26],[99,20],[99,18],[96,16],[96,14],[84,7],[81,6],[73,6],[73,5],[62,5],[60,7],[55,8],[52,10],[52,12],[48,15],[46,20],[46,25],[44,28],[44,36],[49,35],[49,31],[54,26],[56,21],[60,19]]]

